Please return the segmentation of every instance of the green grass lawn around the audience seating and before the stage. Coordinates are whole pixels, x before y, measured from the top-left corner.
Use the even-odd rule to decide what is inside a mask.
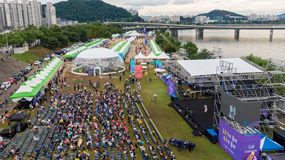
[[[126,64],[126,66],[128,65],[129,64]],[[71,69],[69,68],[69,70]],[[109,81],[109,82],[112,81],[114,84],[116,84],[116,86],[119,89],[123,89],[125,79],[130,74],[130,72],[128,71],[125,71],[125,72],[126,72],[126,75],[121,76],[122,77],[121,81],[119,81],[118,79],[118,77],[121,75],[120,73],[118,75],[116,74],[112,75],[112,79],[109,79],[109,76],[103,77],[103,81],[101,81],[99,80],[98,77],[95,77],[95,76],[74,75],[68,72],[65,74],[65,77],[67,80],[66,85],[69,84],[70,88],[67,89],[67,87],[64,87],[63,92],[65,91],[73,92],[74,84],[83,83],[85,86],[87,86],[89,85],[88,84],[89,80],[91,81],[99,80],[102,86],[104,85],[106,81]],[[148,72],[148,76],[143,75],[143,78],[141,80],[138,80],[142,84],[142,91],[140,92],[140,95],[142,96],[142,103],[144,107],[147,109],[152,121],[154,122],[156,128],[158,129],[162,137],[166,139],[167,142],[169,141],[170,138],[175,137],[175,138],[180,138],[181,140],[184,140],[184,141],[191,140],[193,143],[196,144],[196,148],[191,153],[189,153],[188,150],[184,151],[183,149],[182,149],[182,152],[178,152],[177,148],[171,147],[169,145],[171,151],[173,151],[173,154],[176,157],[176,160],[190,160],[190,159],[193,159],[193,160],[208,160],[208,159],[231,160],[232,158],[228,155],[228,153],[226,153],[221,148],[221,146],[218,146],[216,144],[211,144],[207,140],[206,137],[203,138],[201,136],[200,137],[193,136],[193,134],[191,133],[193,131],[191,127],[178,115],[178,113],[172,107],[167,106],[167,104],[171,102],[170,96],[167,94],[167,85],[165,85],[162,80],[154,76],[153,70],[147,70],[147,72]],[[149,78],[152,79],[151,83],[149,82]],[[87,88],[89,89],[89,87]],[[90,90],[92,91],[93,89],[90,89]],[[98,90],[104,90],[104,87],[101,87]],[[153,98],[153,94],[158,95],[156,103],[153,103],[150,100],[150,98]],[[48,93],[47,93],[47,96],[49,96]],[[138,106],[140,107],[142,113],[144,114],[144,111],[141,105],[138,104]],[[47,105],[44,107],[47,107]],[[25,110],[25,113],[27,112],[28,110]],[[10,114],[12,113],[14,113],[14,110],[12,110]],[[34,112],[31,112],[31,116],[33,115],[34,115]],[[148,123],[148,126],[150,127],[150,129],[154,131],[148,119],[145,118],[145,120]],[[7,121],[5,120],[5,124],[0,125],[1,129],[8,129],[6,122]],[[136,126],[138,128],[137,124]],[[131,139],[133,140],[134,135],[132,132],[133,132],[132,129],[130,129],[130,136],[131,136]],[[85,138],[84,138],[84,141],[85,141]],[[143,139],[143,142],[145,144],[144,139]],[[151,140],[150,142],[151,144],[154,144]],[[138,156],[137,160],[142,160],[142,155],[140,153],[140,150],[138,148],[135,150],[136,150],[136,155]],[[90,159],[93,159],[93,156],[94,156],[93,151],[88,151],[88,153],[90,154]],[[147,147],[146,147],[146,153],[150,155],[149,151],[147,150]],[[129,153],[128,153],[128,156],[129,156]],[[130,160],[130,157],[129,157],[129,160]]]

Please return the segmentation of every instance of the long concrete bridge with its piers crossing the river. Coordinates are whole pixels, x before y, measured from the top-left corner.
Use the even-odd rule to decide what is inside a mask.
[[[283,29],[285,27],[275,27],[275,26],[193,26],[193,25],[174,25],[174,24],[154,24],[154,23],[129,23],[129,22],[108,22],[108,24],[118,24],[122,25],[123,30],[156,30],[156,29],[166,29],[170,32],[171,35],[178,35],[178,30],[181,29],[196,29],[196,38],[203,38],[204,29],[231,29],[234,30],[234,39],[239,39],[239,31],[241,29],[260,29],[260,30],[270,30],[269,41],[272,42],[273,30],[274,29]],[[131,27],[137,26],[137,27]],[[130,26],[130,27],[127,27]]]

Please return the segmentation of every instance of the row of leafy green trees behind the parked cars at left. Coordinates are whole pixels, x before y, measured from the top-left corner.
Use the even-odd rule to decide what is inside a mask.
[[[103,26],[98,22],[63,27],[35,27],[28,25],[24,30],[14,30],[7,34],[8,45],[14,47],[41,45],[47,48],[67,46],[74,42],[86,42],[93,38],[112,38],[114,33],[123,33],[119,25]],[[6,44],[6,34],[0,34],[0,45]]]

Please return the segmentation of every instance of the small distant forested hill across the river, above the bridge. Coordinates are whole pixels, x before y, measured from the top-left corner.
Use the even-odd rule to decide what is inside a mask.
[[[231,20],[229,16],[244,17],[241,14],[237,14],[237,13],[226,11],[226,10],[220,10],[220,9],[212,10],[208,13],[202,13],[197,16],[207,16],[207,17],[210,17],[210,20],[214,20],[214,17],[217,17],[217,16],[223,16],[223,21]]]

